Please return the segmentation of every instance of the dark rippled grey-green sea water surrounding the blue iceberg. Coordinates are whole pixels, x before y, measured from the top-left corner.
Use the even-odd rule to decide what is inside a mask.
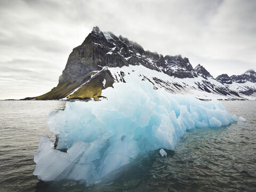
[[[40,137],[55,139],[47,115],[65,103],[0,101],[0,191],[256,191],[256,101],[222,102],[247,122],[189,130],[167,157],[152,151],[89,187],[33,176]]]

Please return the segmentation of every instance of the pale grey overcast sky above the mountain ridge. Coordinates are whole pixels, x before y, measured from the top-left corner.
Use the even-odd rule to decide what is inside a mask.
[[[256,70],[255,10],[255,0],[0,0],[0,99],[57,86],[94,26],[145,50],[188,57],[214,78]]]

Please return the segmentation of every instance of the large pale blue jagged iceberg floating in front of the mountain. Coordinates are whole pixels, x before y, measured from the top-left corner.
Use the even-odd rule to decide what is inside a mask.
[[[156,149],[173,150],[188,129],[227,126],[237,121],[218,101],[172,95],[147,81],[114,84],[107,99],[67,102],[47,124],[59,136],[56,149],[42,137],[34,174],[43,181],[74,179],[90,184]],[[241,119],[242,120],[242,119]]]

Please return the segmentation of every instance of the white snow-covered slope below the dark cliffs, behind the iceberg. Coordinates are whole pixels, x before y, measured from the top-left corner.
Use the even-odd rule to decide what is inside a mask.
[[[215,79],[208,77],[175,78],[161,71],[151,70],[142,65],[129,65],[122,68],[108,68],[115,83],[127,82],[131,74],[136,74],[138,81],[146,80],[154,85],[155,89],[165,88],[173,94],[191,95],[200,99],[255,99],[256,95],[247,96],[238,94],[239,91],[246,90],[246,87],[256,89],[252,82],[243,85],[234,83],[233,85],[223,85]],[[115,87],[115,84],[113,85]],[[254,86],[254,87],[253,87]]]

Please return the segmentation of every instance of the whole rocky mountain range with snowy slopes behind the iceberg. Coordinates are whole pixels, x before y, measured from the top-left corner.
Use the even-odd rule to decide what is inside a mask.
[[[99,99],[101,90],[126,82],[130,74],[155,89],[200,99],[256,99],[256,73],[221,74],[214,79],[200,64],[195,68],[181,55],[145,51],[138,43],[94,27],[68,57],[59,84],[49,93],[25,99]]]

